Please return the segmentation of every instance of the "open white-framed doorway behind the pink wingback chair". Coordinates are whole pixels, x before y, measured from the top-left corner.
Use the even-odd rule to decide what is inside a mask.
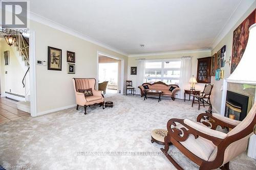
[[[104,96],[123,93],[122,65],[122,60],[98,53],[98,89]]]

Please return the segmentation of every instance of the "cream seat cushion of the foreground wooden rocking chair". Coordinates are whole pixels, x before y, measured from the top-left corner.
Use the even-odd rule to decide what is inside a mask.
[[[197,123],[197,124],[201,125],[201,126],[205,126],[201,123]],[[181,124],[178,124],[176,126],[177,129],[180,129],[182,127],[184,127],[184,126]],[[187,128],[185,128],[185,129],[187,129]],[[199,158],[206,160],[206,161],[210,158],[211,153],[214,152],[214,150],[216,148],[216,145],[214,145],[214,143],[212,143],[210,140],[207,140],[200,136],[197,139],[195,139],[195,137],[191,134],[188,135],[188,138],[185,141],[180,142],[180,143],[191,153],[197,155]]]

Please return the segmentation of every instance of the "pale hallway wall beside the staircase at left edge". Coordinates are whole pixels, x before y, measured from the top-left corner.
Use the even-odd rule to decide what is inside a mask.
[[[0,55],[1,55],[1,96],[5,96],[5,91],[25,95],[25,88],[22,84],[23,76],[25,71],[18,61],[17,52],[13,51],[15,48],[10,47],[4,38],[0,38]],[[9,51],[9,65],[5,65],[4,52]],[[7,71],[7,74],[5,74]]]

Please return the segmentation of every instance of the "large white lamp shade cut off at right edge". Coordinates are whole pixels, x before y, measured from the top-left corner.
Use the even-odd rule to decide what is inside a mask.
[[[256,23],[249,28],[248,42],[238,66],[227,78],[227,82],[256,84]]]

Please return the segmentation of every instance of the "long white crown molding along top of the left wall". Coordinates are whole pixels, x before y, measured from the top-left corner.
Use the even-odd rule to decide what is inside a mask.
[[[96,44],[96,45],[99,45],[99,46],[101,46],[101,47],[104,47],[104,48],[106,48],[106,49],[108,49],[108,50],[111,50],[111,51],[113,51],[113,52],[119,53],[119,54],[121,54],[121,55],[128,56],[128,54],[126,54],[126,53],[124,53],[124,52],[122,52],[122,51],[120,51],[120,50],[117,50],[117,49],[114,48],[114,47],[111,47],[111,46],[109,46],[109,45],[107,45],[107,44],[104,44],[104,43],[102,43],[102,42],[100,42],[100,41],[98,41],[98,40],[96,40],[96,39],[93,39],[93,38],[91,38],[91,37],[89,37],[89,36],[87,36],[87,35],[84,35],[84,34],[82,34],[82,33],[80,33],[80,32],[77,32],[77,31],[75,31],[75,30],[73,30],[73,29],[71,29],[71,28],[68,28],[68,27],[66,27],[66,26],[63,26],[63,25],[61,25],[61,24],[59,24],[59,23],[57,23],[57,22],[55,22],[55,21],[52,21],[52,20],[50,20],[50,19],[48,19],[48,18],[45,18],[45,17],[43,17],[43,16],[40,16],[40,15],[38,15],[38,14],[36,14],[36,13],[33,13],[33,12],[31,12],[31,11],[30,11],[29,13],[30,13],[30,19],[31,19],[31,20],[34,20],[34,21],[39,22],[39,23],[42,23],[43,25],[49,26],[49,27],[51,27],[51,28],[54,28],[54,29],[56,29],[56,30],[65,32],[65,33],[67,33],[67,34],[70,34],[70,35],[73,35],[73,36],[75,36],[75,37],[81,38],[81,39],[83,39],[83,40],[89,41],[89,42],[91,42],[91,43],[94,43],[94,44]]]

